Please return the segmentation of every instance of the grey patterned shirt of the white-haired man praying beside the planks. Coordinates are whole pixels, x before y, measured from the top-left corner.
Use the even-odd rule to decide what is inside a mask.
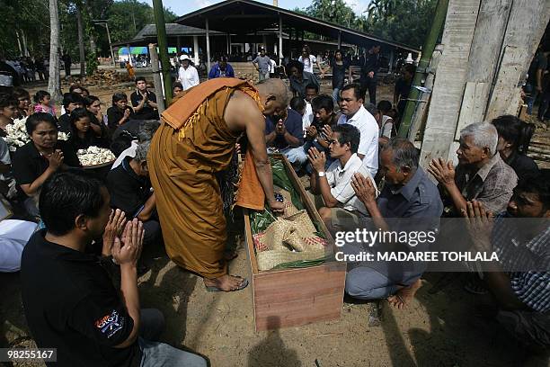
[[[455,183],[466,201],[481,201],[486,209],[499,213],[506,210],[518,176],[497,153],[475,175],[465,166],[458,165]]]

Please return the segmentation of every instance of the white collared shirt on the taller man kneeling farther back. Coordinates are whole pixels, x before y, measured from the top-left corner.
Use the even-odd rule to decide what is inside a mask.
[[[361,138],[359,140],[359,148],[357,153],[364,155],[363,163],[367,166],[368,172],[373,177],[378,171],[378,123],[373,115],[371,115],[365,107],[361,106],[358,112],[348,118],[346,115],[340,116],[338,125],[349,123],[355,126]]]

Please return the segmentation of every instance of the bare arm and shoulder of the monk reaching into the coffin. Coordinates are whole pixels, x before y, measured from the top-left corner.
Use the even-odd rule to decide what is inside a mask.
[[[258,178],[268,202],[277,203],[273,194],[273,175],[265,144],[265,118],[251,97],[235,92],[226,106],[224,118],[231,130],[245,130],[248,148],[251,149]]]

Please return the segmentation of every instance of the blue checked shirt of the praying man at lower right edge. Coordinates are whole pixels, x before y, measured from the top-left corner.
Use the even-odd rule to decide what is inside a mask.
[[[521,239],[519,221],[508,213],[501,213],[492,229],[493,250],[499,256],[505,269],[526,269],[530,264],[533,271],[509,273],[510,285],[519,300],[539,312],[550,310],[550,226],[529,240]],[[510,268],[509,268],[510,266]]]

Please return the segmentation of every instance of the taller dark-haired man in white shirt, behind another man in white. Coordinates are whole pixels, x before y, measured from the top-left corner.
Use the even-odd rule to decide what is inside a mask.
[[[378,123],[363,106],[363,96],[359,84],[353,83],[342,88],[340,112],[342,112],[342,116],[338,120],[338,125],[349,123],[359,130],[361,139],[357,156],[363,160],[370,175],[376,176],[378,171]],[[331,132],[330,128],[324,127],[326,135],[330,136]]]

